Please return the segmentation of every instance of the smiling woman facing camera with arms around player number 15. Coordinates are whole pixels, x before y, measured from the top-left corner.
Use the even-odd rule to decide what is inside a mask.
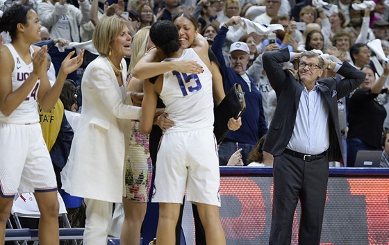
[[[179,15],[176,15],[173,19],[173,23],[179,28],[179,43],[183,49],[188,49],[190,47],[196,47],[199,45],[199,40],[203,40],[202,38],[197,38],[199,35],[197,33],[197,19],[190,15],[188,12],[183,12]],[[199,35],[201,36],[201,35]],[[220,69],[217,65],[217,62],[215,62],[216,58],[212,59],[213,53],[210,53],[210,59],[214,60],[211,61],[212,63],[212,74],[213,74],[213,102],[214,105],[218,105],[220,101],[224,98],[224,90],[223,90],[223,83],[222,83],[222,75],[220,74]],[[198,74],[200,73],[203,68],[201,65],[197,64],[197,62],[194,62],[192,60],[181,60],[179,62],[176,61],[170,61],[170,62],[160,62],[165,58],[165,55],[162,53],[162,51],[158,49],[151,49],[136,65],[135,69],[133,70],[133,76],[140,79],[147,79],[154,76],[158,76],[159,74],[163,74],[168,71],[179,71],[179,72],[185,72],[185,73],[191,73],[191,74]],[[150,64],[150,62],[152,64]],[[152,65],[152,67],[150,67]],[[163,103],[160,101],[159,107],[163,107]],[[169,115],[164,115],[166,119],[169,118]],[[235,120],[230,119],[229,121],[229,129],[230,130],[236,130],[241,125],[241,119]],[[160,142],[160,137],[163,135],[163,130],[165,131],[167,128],[172,126],[172,121],[169,123],[163,123],[161,128],[159,126],[154,125],[153,130],[150,133],[150,155],[151,160],[155,166],[156,159],[157,159],[157,147]],[[194,216],[197,214],[197,209],[195,208],[195,205],[192,205],[193,207],[193,213]],[[183,210],[183,208],[182,208]],[[181,220],[181,219],[180,219]],[[195,225],[196,225],[196,242],[199,244],[204,244],[205,239],[204,235],[201,236],[201,223],[198,222],[198,216],[195,217]],[[181,236],[181,225],[177,226],[177,235],[176,235],[176,242]],[[204,230],[203,230],[204,232]],[[176,243],[179,244],[179,243]]]

